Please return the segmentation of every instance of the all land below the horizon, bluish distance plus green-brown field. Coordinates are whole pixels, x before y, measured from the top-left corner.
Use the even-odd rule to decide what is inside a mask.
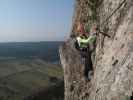
[[[46,43],[0,44],[0,100],[63,100],[62,68],[53,64],[59,61],[57,49]]]

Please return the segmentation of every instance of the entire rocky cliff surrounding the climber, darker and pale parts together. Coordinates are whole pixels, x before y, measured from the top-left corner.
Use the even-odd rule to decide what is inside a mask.
[[[94,75],[84,80],[84,65],[69,39],[60,48],[64,69],[65,100],[133,100],[133,1],[76,0],[73,28],[80,18],[91,26],[97,22]]]

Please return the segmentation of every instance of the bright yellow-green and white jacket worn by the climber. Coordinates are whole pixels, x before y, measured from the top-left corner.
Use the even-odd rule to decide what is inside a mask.
[[[86,48],[89,44],[93,44],[96,40],[96,36],[89,36],[88,38],[81,38],[80,36],[76,38],[79,44],[79,47]]]

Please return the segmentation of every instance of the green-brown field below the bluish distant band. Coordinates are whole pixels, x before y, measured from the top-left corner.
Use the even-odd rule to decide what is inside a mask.
[[[41,59],[0,62],[0,100],[63,100],[63,95],[61,67]]]

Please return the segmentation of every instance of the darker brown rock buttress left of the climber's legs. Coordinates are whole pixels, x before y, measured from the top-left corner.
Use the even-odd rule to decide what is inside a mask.
[[[80,100],[88,95],[90,84],[83,79],[84,65],[79,52],[73,48],[73,41],[68,40],[61,48],[61,63],[64,68],[65,100]]]

